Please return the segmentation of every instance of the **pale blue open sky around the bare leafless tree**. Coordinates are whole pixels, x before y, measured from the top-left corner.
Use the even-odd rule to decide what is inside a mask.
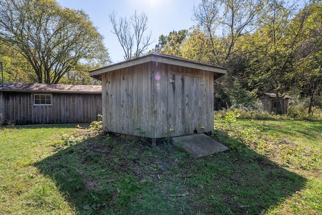
[[[136,11],[147,15],[147,31],[152,32],[155,42],[149,49],[155,47],[160,35],[169,32],[189,29],[195,23],[192,21],[193,7],[202,0],[56,0],[62,7],[85,11],[94,26],[105,37],[113,63],[124,61],[124,53],[109,20],[109,15],[116,11],[117,17],[130,17]]]

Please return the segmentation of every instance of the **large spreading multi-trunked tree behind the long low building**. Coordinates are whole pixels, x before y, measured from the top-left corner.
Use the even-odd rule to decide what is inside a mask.
[[[39,83],[58,83],[78,63],[108,56],[88,15],[54,0],[0,0],[0,39],[27,59]]]

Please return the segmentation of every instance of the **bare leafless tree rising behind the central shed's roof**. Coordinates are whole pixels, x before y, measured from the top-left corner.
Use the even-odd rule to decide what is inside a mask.
[[[124,59],[131,60],[140,57],[148,46],[153,43],[151,41],[151,32],[145,35],[147,30],[147,16],[145,13],[137,14],[136,11],[130,19],[119,18],[117,21],[117,14],[113,11],[110,14],[110,22],[112,23],[112,33],[117,36],[122,49],[124,51]]]

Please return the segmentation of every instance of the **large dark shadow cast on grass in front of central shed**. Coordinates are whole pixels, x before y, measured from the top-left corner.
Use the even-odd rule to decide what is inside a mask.
[[[306,182],[247,148],[195,159],[100,135],[35,165],[84,214],[261,214]]]

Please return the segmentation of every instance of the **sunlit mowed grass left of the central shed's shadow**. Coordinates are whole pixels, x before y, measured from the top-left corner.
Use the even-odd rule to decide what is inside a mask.
[[[0,129],[0,211],[2,214],[73,214],[55,180],[34,164],[54,154],[60,132],[74,125],[16,126]]]

